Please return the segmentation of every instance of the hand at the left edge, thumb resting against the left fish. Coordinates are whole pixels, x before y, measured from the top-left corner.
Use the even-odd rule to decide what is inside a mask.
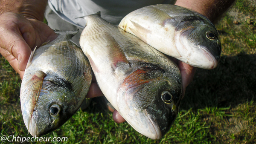
[[[58,35],[39,20],[14,12],[0,15],[0,53],[20,74],[21,79],[32,50],[56,37]]]

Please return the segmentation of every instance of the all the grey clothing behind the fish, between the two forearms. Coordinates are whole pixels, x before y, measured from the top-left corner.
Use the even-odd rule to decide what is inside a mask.
[[[143,6],[157,3],[174,4],[176,0],[49,0],[45,18],[52,29],[72,31],[79,29],[72,40],[79,45],[79,37],[86,21],[75,19],[101,11],[101,16],[109,23],[118,25],[129,12]]]

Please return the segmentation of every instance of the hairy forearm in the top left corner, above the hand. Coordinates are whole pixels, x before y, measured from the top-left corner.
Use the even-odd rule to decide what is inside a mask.
[[[42,21],[47,0],[0,0],[0,5],[0,15],[6,12],[15,12],[24,17]]]

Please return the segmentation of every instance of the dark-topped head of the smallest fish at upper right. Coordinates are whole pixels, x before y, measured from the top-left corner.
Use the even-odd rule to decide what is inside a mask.
[[[188,64],[204,69],[217,66],[221,41],[217,29],[206,17],[185,17],[176,28],[175,42],[181,48],[180,55],[188,57]]]

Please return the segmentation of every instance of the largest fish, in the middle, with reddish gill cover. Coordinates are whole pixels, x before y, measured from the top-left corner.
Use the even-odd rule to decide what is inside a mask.
[[[110,104],[137,132],[160,139],[180,107],[180,70],[166,55],[100,17],[86,20],[79,44]]]

